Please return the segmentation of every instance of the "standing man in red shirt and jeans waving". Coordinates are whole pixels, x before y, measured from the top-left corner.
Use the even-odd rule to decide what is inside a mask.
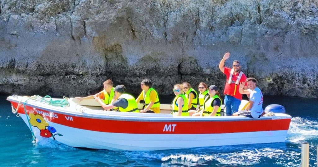
[[[239,105],[242,101],[242,94],[239,93],[241,82],[246,80],[245,74],[241,71],[239,60],[234,60],[232,69],[225,67],[225,60],[229,59],[230,53],[225,53],[220,61],[219,69],[226,75],[226,83],[224,87],[224,103],[226,107],[226,116],[231,116],[239,110]],[[247,89],[247,85],[243,85]]]

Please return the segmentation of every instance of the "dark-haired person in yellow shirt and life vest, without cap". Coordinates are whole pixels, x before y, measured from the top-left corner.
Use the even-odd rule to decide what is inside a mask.
[[[144,100],[145,106],[144,109],[140,110],[141,113],[159,113],[160,112],[160,103],[156,90],[152,88],[151,80],[144,79],[141,81],[142,93],[136,99],[136,103]]]

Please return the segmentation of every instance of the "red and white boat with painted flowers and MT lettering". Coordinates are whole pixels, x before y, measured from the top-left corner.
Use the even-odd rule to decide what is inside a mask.
[[[95,100],[70,98],[68,107],[17,95],[7,100],[37,139],[47,137],[90,149],[140,151],[284,142],[291,121],[290,115],[282,113],[258,119],[179,117],[169,114],[171,106],[166,104],[160,106],[161,114],[148,114],[105,111]]]

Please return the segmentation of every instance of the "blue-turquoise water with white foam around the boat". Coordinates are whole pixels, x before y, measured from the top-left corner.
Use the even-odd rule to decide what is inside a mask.
[[[285,143],[109,151],[72,148],[49,139],[33,145],[27,125],[12,114],[6,96],[0,96],[0,162],[1,166],[300,166],[301,141],[307,141],[309,166],[317,166],[318,100],[264,97],[264,106],[274,103],[293,117]]]

